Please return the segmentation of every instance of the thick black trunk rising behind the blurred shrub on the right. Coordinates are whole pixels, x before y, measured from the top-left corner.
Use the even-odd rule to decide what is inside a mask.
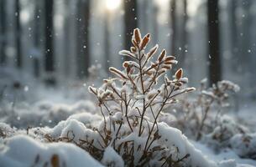
[[[208,0],[208,39],[210,84],[222,79],[222,64],[219,46],[218,0]]]

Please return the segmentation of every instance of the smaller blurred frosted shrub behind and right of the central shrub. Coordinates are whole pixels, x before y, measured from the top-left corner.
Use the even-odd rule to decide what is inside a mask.
[[[227,80],[219,81],[207,89],[206,79],[203,79],[196,98],[180,99],[184,113],[178,118],[179,127],[191,130],[189,133],[197,140],[201,139],[202,134],[212,133],[215,127],[222,124],[220,115],[222,109],[229,106],[230,93],[238,91],[239,86]]]

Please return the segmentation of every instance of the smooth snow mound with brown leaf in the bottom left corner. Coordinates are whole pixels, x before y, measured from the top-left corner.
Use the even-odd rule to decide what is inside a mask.
[[[42,144],[25,135],[17,135],[0,144],[2,167],[18,166],[102,166],[74,144]],[[51,165],[49,165],[51,164]]]

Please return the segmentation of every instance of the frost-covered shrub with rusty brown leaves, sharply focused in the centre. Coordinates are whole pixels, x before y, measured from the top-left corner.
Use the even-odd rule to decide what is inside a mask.
[[[175,104],[180,94],[194,88],[185,88],[188,79],[183,77],[181,68],[173,79],[167,77],[166,73],[177,61],[173,56],[166,56],[165,50],[154,58],[158,45],[147,53],[149,40],[149,34],[141,38],[139,30],[135,29],[133,47],[120,52],[129,58],[123,62],[123,71],[111,67],[109,70],[115,78],[104,79],[98,89],[89,87],[91,94],[97,97],[104,119],[96,129],[101,136],[98,140],[101,149],[112,147],[128,166],[179,166],[188,162],[197,166],[195,159],[189,158],[194,155],[186,144],[176,140],[183,138],[180,130],[172,133],[172,129],[164,130],[165,127],[158,124],[163,110]],[[164,83],[158,83],[159,78],[164,78]]]

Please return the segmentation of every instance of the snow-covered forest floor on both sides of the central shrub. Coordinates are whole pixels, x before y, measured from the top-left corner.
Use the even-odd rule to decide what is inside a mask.
[[[8,68],[0,71],[0,166],[123,165],[114,149],[107,147],[102,159],[95,159],[90,150],[78,144],[85,135],[97,135],[91,129],[102,122],[96,99],[87,93],[91,81],[50,89]],[[177,114],[179,109],[175,106],[161,116],[159,122],[165,123],[159,127],[170,134],[166,139],[179,153],[190,154],[180,166],[256,166],[255,103],[249,102],[236,112],[232,107],[224,109],[221,124],[206,129],[201,139],[196,139],[193,129],[186,129],[186,124],[197,125],[192,123],[194,119],[184,124],[185,119]]]

